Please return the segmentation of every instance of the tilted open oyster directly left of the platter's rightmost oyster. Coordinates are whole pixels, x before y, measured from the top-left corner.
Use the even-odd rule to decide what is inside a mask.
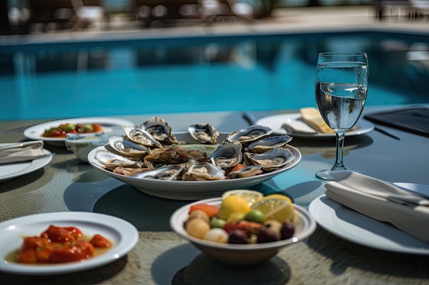
[[[217,147],[215,152],[210,155],[210,161],[222,169],[233,167],[240,163],[243,159],[241,152],[241,143],[235,141],[231,144],[221,144]]]

